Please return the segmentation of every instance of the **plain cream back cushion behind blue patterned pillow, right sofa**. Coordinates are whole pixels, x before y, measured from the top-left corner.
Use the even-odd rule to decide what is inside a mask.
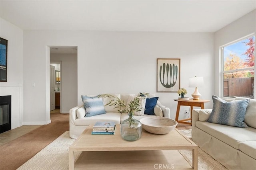
[[[247,98],[236,97],[235,100],[245,100]],[[250,103],[246,108],[244,122],[250,126],[256,128],[256,99],[250,99]]]

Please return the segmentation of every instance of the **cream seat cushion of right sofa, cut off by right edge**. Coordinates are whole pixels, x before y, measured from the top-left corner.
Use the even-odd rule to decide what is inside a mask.
[[[256,141],[247,141],[240,143],[239,150],[256,159]]]

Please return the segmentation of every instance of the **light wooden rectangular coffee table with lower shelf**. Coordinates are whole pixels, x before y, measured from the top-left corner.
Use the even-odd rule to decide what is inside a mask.
[[[76,169],[191,169],[178,150],[192,150],[192,168],[198,168],[198,146],[174,129],[156,135],[143,129],[141,139],[125,141],[116,125],[115,135],[91,135],[88,126],[69,148],[69,169],[75,168],[74,152],[82,151]]]

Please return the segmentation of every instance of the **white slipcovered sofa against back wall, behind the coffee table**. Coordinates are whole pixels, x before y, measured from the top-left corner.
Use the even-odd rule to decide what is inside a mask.
[[[128,96],[135,94],[114,94],[118,96],[124,103],[127,103]],[[96,96],[96,95],[87,95],[87,96]],[[155,97],[155,94],[149,94],[147,98]],[[108,103],[108,99],[103,98],[103,104]],[[78,136],[86,129],[88,125],[94,125],[97,121],[114,121],[116,124],[122,123],[125,119],[128,119],[127,113],[119,113],[117,109],[114,109],[114,106],[104,106],[106,114],[94,115],[91,117],[81,117],[79,112],[84,112],[84,105],[76,106],[69,111],[69,135],[73,139],[77,139]],[[154,113],[157,116],[163,116],[170,118],[170,109],[166,106],[163,106],[159,100],[154,107]],[[156,116],[156,115],[144,115],[138,116],[134,115],[134,118],[140,120],[146,116]],[[78,118],[79,117],[79,118]]]

